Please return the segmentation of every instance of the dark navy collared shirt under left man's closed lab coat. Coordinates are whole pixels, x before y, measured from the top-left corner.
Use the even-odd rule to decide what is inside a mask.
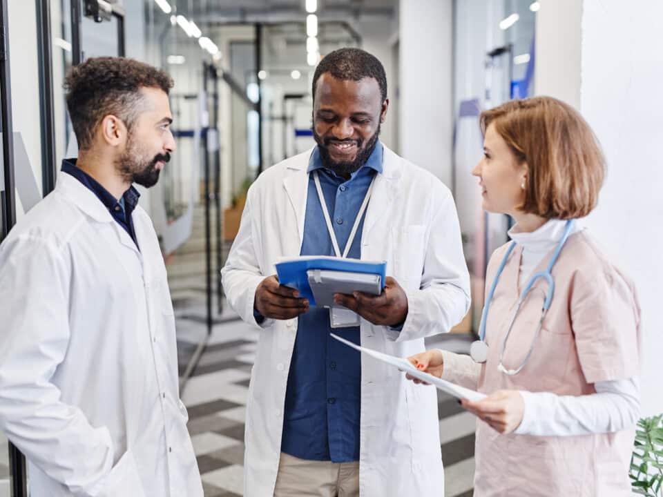
[[[136,240],[136,233],[133,229],[133,220],[131,218],[131,213],[138,205],[138,199],[140,193],[131,186],[124,195],[118,200],[116,199],[111,192],[106,190],[96,179],[88,175],[84,170],[76,166],[76,159],[64,159],[62,161],[62,172],[72,175],[79,180],[82,184],[87,186],[92,193],[97,195],[97,198],[102,201],[102,204],[106,206],[108,212],[111,213],[113,219],[117,221],[117,224],[124,228],[131,240],[138,246],[138,240]]]

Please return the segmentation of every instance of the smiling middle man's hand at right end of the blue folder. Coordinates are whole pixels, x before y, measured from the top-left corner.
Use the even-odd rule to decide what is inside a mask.
[[[353,295],[334,294],[337,305],[347,307],[373,324],[396,327],[407,318],[407,296],[401,285],[391,276],[385,280],[385,290],[380,295],[355,292]]]

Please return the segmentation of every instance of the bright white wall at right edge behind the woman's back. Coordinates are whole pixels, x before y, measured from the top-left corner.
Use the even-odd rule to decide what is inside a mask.
[[[646,416],[663,412],[661,19],[660,1],[584,0],[581,108],[608,161],[587,224],[639,292]]]

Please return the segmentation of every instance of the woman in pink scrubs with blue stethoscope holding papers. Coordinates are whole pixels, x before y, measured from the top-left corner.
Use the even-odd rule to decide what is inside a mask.
[[[483,208],[515,220],[512,242],[488,263],[471,356],[431,350],[410,361],[488,395],[462,401],[481,420],[474,496],[628,495],[640,310],[631,281],[575,222],[597,202],[599,144],[550,97],[488,110],[481,130],[472,174]]]

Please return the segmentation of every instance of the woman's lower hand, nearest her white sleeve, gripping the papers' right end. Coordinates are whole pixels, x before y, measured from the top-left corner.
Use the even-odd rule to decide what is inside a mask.
[[[523,420],[525,402],[517,390],[498,390],[478,402],[463,399],[461,405],[499,433],[511,433]]]

